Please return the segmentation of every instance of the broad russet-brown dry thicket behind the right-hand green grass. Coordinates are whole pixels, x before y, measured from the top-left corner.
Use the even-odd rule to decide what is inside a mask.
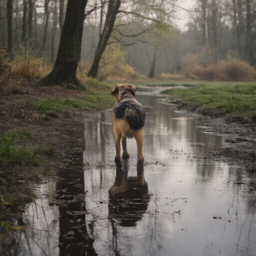
[[[179,73],[187,78],[203,80],[241,81],[256,79],[256,70],[247,62],[229,55],[226,60],[221,60],[214,64],[213,57],[210,57],[210,54],[208,54],[208,57],[211,60],[205,60],[207,52],[209,51],[205,49],[196,54],[188,52],[181,58],[181,70]],[[214,51],[212,52],[214,53]]]

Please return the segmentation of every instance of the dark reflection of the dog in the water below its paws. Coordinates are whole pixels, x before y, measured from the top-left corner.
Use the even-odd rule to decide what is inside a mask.
[[[143,164],[137,164],[136,177],[128,177],[127,160],[123,164],[116,164],[114,184],[108,193],[109,217],[118,219],[121,226],[136,226],[136,221],[146,212],[150,199]]]

